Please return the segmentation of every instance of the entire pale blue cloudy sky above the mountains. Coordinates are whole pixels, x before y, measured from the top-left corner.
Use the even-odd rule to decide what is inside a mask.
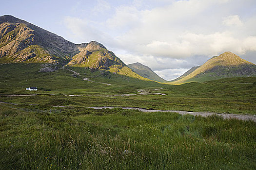
[[[256,0],[0,0],[0,16],[73,43],[102,43],[125,64],[172,80],[232,51],[256,63]]]

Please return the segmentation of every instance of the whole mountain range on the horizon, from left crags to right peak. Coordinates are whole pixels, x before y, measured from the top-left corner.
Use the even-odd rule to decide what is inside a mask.
[[[89,68],[92,72],[105,69],[141,80],[168,84],[204,82],[225,77],[256,76],[256,65],[232,52],[214,56],[202,66],[191,68],[177,79],[167,82],[151,68],[140,63],[126,65],[104,45],[91,41],[74,44],[59,35],[13,16],[0,17],[0,63],[47,63]]]

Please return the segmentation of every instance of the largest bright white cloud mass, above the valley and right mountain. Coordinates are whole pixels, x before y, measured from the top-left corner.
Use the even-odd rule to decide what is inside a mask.
[[[245,30],[248,31],[248,27],[238,15],[229,15],[223,20],[223,15],[226,16],[228,12],[220,10],[214,11],[214,14],[209,13],[217,10],[212,9],[212,6],[221,8],[223,3],[227,2],[187,0],[176,1],[152,10],[138,11],[133,8],[133,12],[124,11],[128,16],[130,13],[135,13],[141,17],[140,20],[136,19],[138,23],[136,27],[130,27],[129,31],[117,37],[118,46],[136,55],[171,58],[187,58],[193,55],[212,56],[224,51],[233,51],[239,55],[247,50],[253,50],[254,48],[242,46],[246,44],[244,41],[249,41],[246,40],[248,36],[251,36],[247,33],[254,32],[252,26],[251,31],[245,32]],[[125,24],[117,23],[129,25],[129,19],[123,16],[124,14],[119,15],[117,10],[113,18],[125,22]],[[222,27],[222,23],[233,27]],[[244,27],[241,28],[241,26]]]

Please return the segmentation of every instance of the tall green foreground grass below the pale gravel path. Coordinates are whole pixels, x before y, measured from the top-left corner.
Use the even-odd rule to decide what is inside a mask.
[[[0,105],[1,170],[253,170],[256,123],[236,119]]]

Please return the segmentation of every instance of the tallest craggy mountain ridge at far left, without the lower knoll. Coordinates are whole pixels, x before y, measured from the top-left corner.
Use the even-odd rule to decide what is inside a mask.
[[[7,56],[9,62],[63,63],[78,53],[81,46],[9,15],[0,17],[0,42],[0,58]],[[36,56],[36,61],[31,59]],[[45,61],[43,57],[50,60]]]

